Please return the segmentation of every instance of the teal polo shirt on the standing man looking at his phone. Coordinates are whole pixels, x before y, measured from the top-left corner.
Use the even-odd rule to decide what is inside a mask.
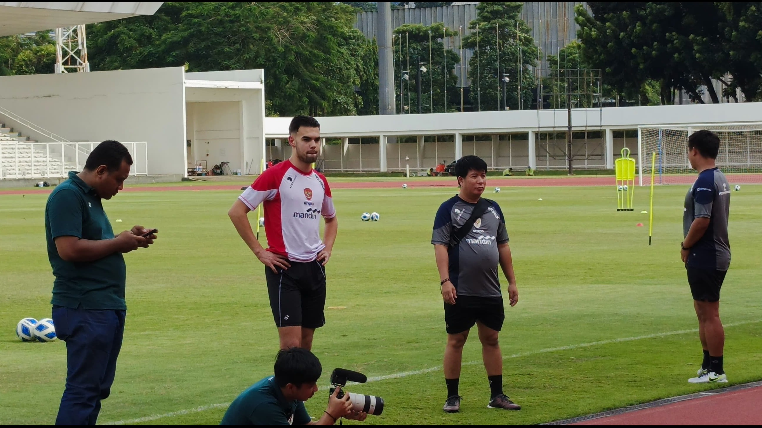
[[[83,309],[126,309],[126,266],[121,253],[99,260],[70,262],[58,255],[54,239],[75,236],[90,241],[113,239],[114,229],[95,190],[69,171],[69,180],[56,186],[45,206],[48,259],[53,267],[53,305]]]

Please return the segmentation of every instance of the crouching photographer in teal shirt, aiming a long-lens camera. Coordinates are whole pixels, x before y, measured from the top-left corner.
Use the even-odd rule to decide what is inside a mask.
[[[235,398],[219,424],[333,425],[341,417],[354,420],[367,417],[363,411],[352,410],[350,394],[342,395],[341,388],[336,388],[328,398],[328,408],[319,420],[312,421],[304,402],[318,391],[322,366],[309,350],[296,347],[280,350],[274,373]]]

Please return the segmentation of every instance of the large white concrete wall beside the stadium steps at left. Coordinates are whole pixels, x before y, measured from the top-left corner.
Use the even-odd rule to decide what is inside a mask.
[[[0,106],[69,141],[145,141],[149,174],[185,174],[183,73],[171,67],[5,76]]]

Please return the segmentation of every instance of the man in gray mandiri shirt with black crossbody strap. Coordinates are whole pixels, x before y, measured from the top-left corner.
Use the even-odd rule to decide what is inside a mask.
[[[463,345],[474,324],[479,328],[482,358],[487,369],[491,398],[487,407],[520,410],[503,393],[503,358],[498,334],[505,318],[498,279],[498,264],[508,279],[511,306],[518,302],[511,248],[505,230],[503,212],[497,203],[483,200],[487,185],[487,164],[477,156],[464,156],[455,164],[460,192],[445,201],[434,219],[431,244],[437,257],[437,269],[444,300],[447,347],[444,351],[444,380],[447,401],[443,410],[460,410],[458,395]],[[475,211],[472,225],[458,237]],[[462,239],[459,239],[462,238]]]

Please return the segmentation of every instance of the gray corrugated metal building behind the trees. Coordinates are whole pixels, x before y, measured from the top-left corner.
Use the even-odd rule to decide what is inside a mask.
[[[532,37],[540,48],[541,59],[539,68],[547,67],[545,56],[555,55],[571,40],[577,38],[578,25],[574,21],[574,8],[576,5],[587,5],[580,2],[547,2],[547,3],[524,3],[521,9],[521,19],[532,29]],[[459,31],[464,36],[471,34],[469,24],[476,18],[476,5],[474,3],[454,3],[451,6],[440,8],[410,8],[392,10],[392,28],[402,24],[431,25],[435,22],[443,22],[450,30]],[[589,8],[588,8],[589,10]],[[365,37],[376,37],[376,15],[378,12],[358,12],[357,22],[354,27],[362,31]],[[459,52],[460,37],[447,37],[444,40],[447,49]],[[404,49],[404,45],[403,45]],[[460,53],[460,52],[459,52]],[[463,50],[460,53],[461,62],[455,67],[455,73],[460,79],[461,69],[468,67],[471,52]],[[466,70],[466,75],[470,72]],[[461,82],[458,81],[458,86]],[[466,81],[466,86],[469,82]]]

